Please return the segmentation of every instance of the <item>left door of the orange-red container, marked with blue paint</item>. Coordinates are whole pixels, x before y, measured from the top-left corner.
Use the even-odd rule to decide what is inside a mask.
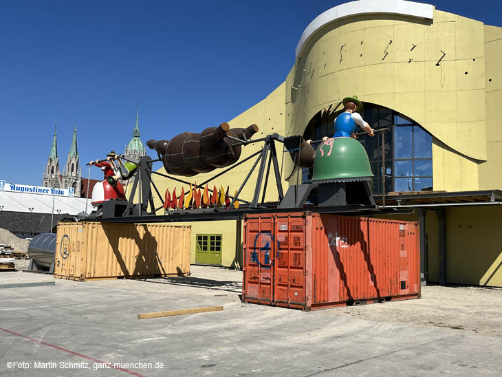
[[[243,297],[251,302],[273,302],[274,221],[272,217],[246,220]]]

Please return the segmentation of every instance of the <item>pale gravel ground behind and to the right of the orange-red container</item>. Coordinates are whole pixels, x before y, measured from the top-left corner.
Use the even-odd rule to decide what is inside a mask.
[[[176,290],[187,296],[201,290],[222,301],[239,301],[242,272],[225,268],[190,266],[189,277],[164,279],[104,280],[103,286],[133,285],[135,290]],[[148,283],[145,284],[144,282]],[[132,287],[131,287],[132,288]],[[387,301],[361,306],[318,310],[315,316],[354,316],[386,323],[403,323],[422,327],[446,327],[502,338],[502,288],[422,287],[422,299]]]

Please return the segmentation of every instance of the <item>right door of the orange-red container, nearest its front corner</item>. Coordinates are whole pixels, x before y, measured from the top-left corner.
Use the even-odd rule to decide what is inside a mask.
[[[307,301],[306,229],[301,216],[275,217],[274,303],[304,308]]]

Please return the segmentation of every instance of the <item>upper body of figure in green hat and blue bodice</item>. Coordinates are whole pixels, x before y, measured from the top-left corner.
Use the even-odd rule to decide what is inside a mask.
[[[335,134],[334,138],[353,137],[356,138],[356,127],[360,127],[366,131],[369,136],[375,136],[373,129],[369,127],[367,122],[364,122],[362,116],[356,111],[362,109],[362,103],[358,100],[358,96],[345,97],[342,100],[345,107],[345,112],[335,118]]]

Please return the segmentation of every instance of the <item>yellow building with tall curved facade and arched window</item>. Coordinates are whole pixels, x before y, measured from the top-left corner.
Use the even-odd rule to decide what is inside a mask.
[[[384,166],[382,138],[361,139],[376,176],[373,193],[382,194],[382,175],[386,193],[502,189],[502,129],[497,127],[502,119],[502,28],[430,4],[352,1],[307,25],[296,50],[292,46],[293,56],[285,81],[230,120],[231,127],[256,123],[257,136],[276,132],[320,138],[332,131],[342,98],[356,94],[364,105],[363,118],[375,129],[387,129]],[[260,147],[243,148],[241,159]],[[285,190],[308,179],[290,158],[282,161],[281,151],[279,159]],[[215,184],[230,186],[233,193],[251,165],[252,160]],[[207,177],[195,178],[202,182]],[[154,179],[161,192],[181,188]],[[252,189],[243,191],[243,197],[250,198]],[[448,202],[440,196],[430,204]],[[276,199],[274,182],[267,197]],[[498,202],[493,195],[492,202]],[[417,213],[426,224],[424,279],[502,286],[502,237],[496,231],[502,226],[500,205],[423,206],[406,218],[418,219]],[[191,225],[192,263],[241,266],[240,222]],[[217,252],[205,257],[210,250],[201,244],[204,239],[213,244],[219,240],[219,257]]]

